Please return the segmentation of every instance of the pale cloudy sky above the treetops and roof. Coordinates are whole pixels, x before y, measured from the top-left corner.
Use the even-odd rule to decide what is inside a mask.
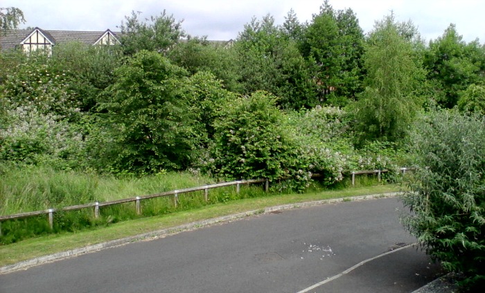
[[[282,24],[293,9],[300,22],[311,21],[324,0],[1,0],[0,7],[17,7],[25,15],[20,28],[44,30],[118,30],[132,11],[143,18],[166,10],[184,20],[182,28],[192,36],[210,40],[236,39],[252,17],[268,13]],[[398,21],[411,20],[426,40],[436,39],[450,23],[455,23],[465,41],[485,40],[483,0],[330,0],[335,10],[351,8],[364,32],[376,20],[394,11]]]

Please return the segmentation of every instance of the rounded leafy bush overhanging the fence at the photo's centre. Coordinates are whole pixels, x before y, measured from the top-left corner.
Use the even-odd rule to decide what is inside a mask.
[[[214,123],[216,172],[233,179],[288,176],[288,157],[297,153],[275,104],[276,97],[259,91],[224,105]]]

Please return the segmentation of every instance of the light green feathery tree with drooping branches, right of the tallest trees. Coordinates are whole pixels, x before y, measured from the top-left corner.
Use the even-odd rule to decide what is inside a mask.
[[[421,108],[414,91],[423,80],[412,44],[400,35],[394,15],[376,22],[364,53],[365,91],[353,105],[361,139],[396,141]]]

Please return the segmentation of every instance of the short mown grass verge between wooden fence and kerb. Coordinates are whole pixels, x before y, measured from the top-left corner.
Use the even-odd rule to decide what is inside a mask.
[[[116,223],[107,227],[96,227],[95,229],[82,230],[74,233],[64,232],[38,238],[30,238],[18,243],[0,246],[0,266],[10,265],[38,256],[63,252],[77,247],[84,247],[118,238],[143,234],[157,229],[177,227],[198,220],[206,220],[254,209],[263,209],[274,205],[324,200],[328,198],[345,198],[374,193],[387,193],[398,190],[399,187],[397,185],[379,185],[304,194],[274,194],[261,198],[245,198],[242,200],[217,203],[200,207],[198,209],[177,211],[173,214],[139,218]]]

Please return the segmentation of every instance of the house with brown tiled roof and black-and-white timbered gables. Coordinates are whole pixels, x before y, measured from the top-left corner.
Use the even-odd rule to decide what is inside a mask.
[[[36,50],[44,50],[48,55],[52,54],[52,48],[56,44],[78,41],[82,44],[114,45],[120,44],[118,35],[121,32],[103,31],[76,31],[76,30],[10,30],[5,35],[0,35],[0,50],[21,48],[25,53]]]

